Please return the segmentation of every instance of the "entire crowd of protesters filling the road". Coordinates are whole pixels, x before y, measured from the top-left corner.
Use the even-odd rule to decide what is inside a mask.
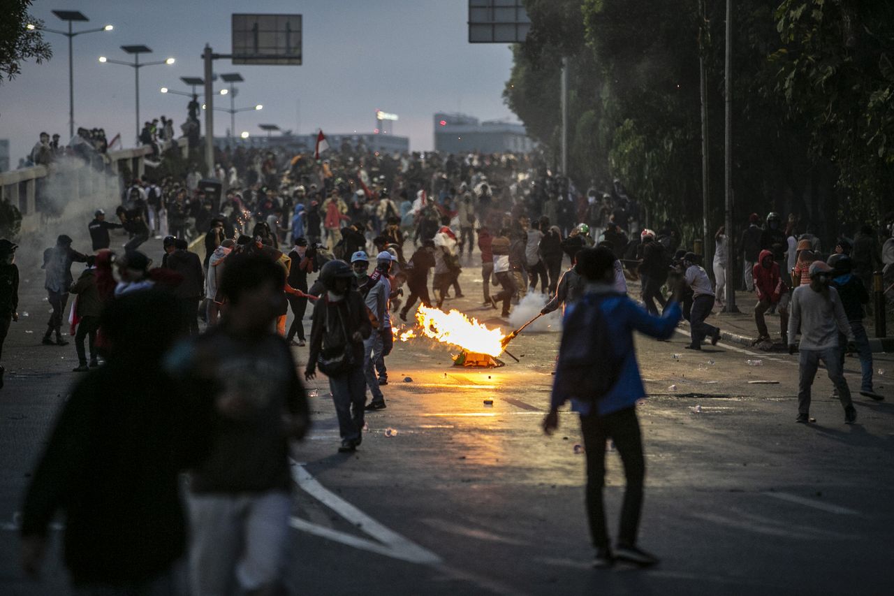
[[[60,235],[44,252],[52,315],[43,344],[67,345],[73,294],[74,371],[88,374],[63,405],[30,483],[21,527],[26,571],[38,573],[48,524],[63,509],[76,586],[164,591],[189,527],[193,593],[236,585],[275,593],[288,549],[288,441],[310,424],[301,377],[328,378],[338,450],[355,451],[367,413],[387,407],[392,318],[407,320],[417,302],[441,308],[451,292],[462,296],[460,271],[479,267],[476,247],[485,305],[508,316],[530,292],[543,294],[544,312],[565,311],[544,430],[556,428],[557,408],[570,399],[586,443],[595,564],[657,562],[637,547],[645,467],[634,404],[645,389],[632,333],[666,338],[684,317],[688,348],[718,342],[720,329],[705,319],[722,285],[732,283],[722,228],[712,280],[700,255],[681,247],[672,221],[657,232],[644,227],[642,209],[620,181],[611,192],[580,193],[536,156],[352,149],[315,160],[236,149],[216,158],[219,193],[199,183],[195,166],[181,180],[135,180],[116,210],[119,223],[97,209],[91,251]],[[763,228],[756,216],[752,223],[739,247],[746,262],[754,257],[743,283],[757,294],[755,323],[767,336],[763,314],[776,307],[790,312],[781,331],[791,352],[801,336],[797,421],[809,421],[810,386],[823,362],[852,423],[856,410],[841,374],[846,341],[856,342],[864,366],[861,393],[881,398],[861,322],[864,249],[877,249],[865,240],[871,231],[839,239],[826,264],[819,240],[797,234],[797,224],[781,230],[775,214]],[[128,242],[119,250],[112,239],[122,233]],[[200,234],[204,259],[190,249]],[[153,235],[164,249],[157,267],[140,251]],[[17,318],[17,248],[0,240],[0,358]],[[894,240],[883,251],[890,267]],[[563,270],[566,258],[571,267]],[[74,263],[86,265],[77,279]],[[633,280],[644,308],[628,297]],[[292,347],[308,349],[302,375]],[[614,549],[602,500],[606,438],[614,439],[628,479]],[[109,464],[109,453],[121,456]],[[183,471],[190,472],[188,509],[178,493]],[[123,515],[134,510],[143,512],[136,521]]]

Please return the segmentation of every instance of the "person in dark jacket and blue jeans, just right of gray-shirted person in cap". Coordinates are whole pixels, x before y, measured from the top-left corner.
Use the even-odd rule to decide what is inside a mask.
[[[853,261],[848,255],[833,254],[829,258],[828,264],[832,268],[831,275],[833,276],[830,285],[839,293],[841,305],[844,307],[845,314],[848,315],[848,325],[854,332],[856,353],[860,356],[860,372],[862,373],[860,395],[881,401],[884,396],[879,395],[873,389],[873,349],[869,345],[869,337],[866,336],[866,329],[863,327],[864,304],[869,302],[869,294],[866,294],[863,281],[853,275]],[[839,346],[843,345],[847,345],[847,340],[839,333]],[[839,350],[841,370],[844,370],[844,353],[843,349]]]

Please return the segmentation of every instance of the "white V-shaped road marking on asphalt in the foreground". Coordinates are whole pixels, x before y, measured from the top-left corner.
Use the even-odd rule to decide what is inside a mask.
[[[319,481],[316,481],[303,465],[295,462],[291,464],[292,480],[298,484],[301,490],[304,490],[320,503],[332,509],[338,515],[341,515],[346,521],[356,526],[359,530],[367,535],[375,538],[376,541],[369,541],[347,532],[340,532],[332,528],[326,528],[318,524],[311,524],[307,520],[299,517],[291,517],[291,527],[302,532],[308,532],[321,538],[331,541],[341,542],[355,549],[368,550],[376,552],[386,557],[397,558],[401,561],[409,563],[417,563],[420,565],[440,565],[442,560],[432,551],[423,549],[416,543],[411,542],[401,536],[397,532],[392,532],[384,525],[379,524],[373,518],[369,517],[357,507],[351,505],[348,501],[339,497],[330,490],[327,490]]]

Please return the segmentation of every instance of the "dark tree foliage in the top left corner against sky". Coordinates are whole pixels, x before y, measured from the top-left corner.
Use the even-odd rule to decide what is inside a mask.
[[[32,0],[7,0],[0,19],[0,85],[21,72],[21,62],[49,60],[53,50],[40,33],[43,22],[28,13]],[[32,28],[28,28],[32,25]]]

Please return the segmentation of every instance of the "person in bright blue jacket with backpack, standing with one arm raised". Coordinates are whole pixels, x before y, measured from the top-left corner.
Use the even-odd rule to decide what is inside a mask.
[[[645,387],[639,374],[633,332],[639,331],[660,339],[672,336],[681,314],[678,300],[680,288],[678,286],[661,317],[650,315],[626,294],[618,294],[612,288],[614,260],[614,254],[605,248],[588,248],[578,253],[577,269],[586,278],[586,291],[578,302],[569,305],[564,320],[572,319],[577,309],[599,309],[598,315],[601,316],[587,317],[590,324],[566,325],[562,337],[562,346],[593,345],[598,346],[593,348],[595,351],[608,349],[611,358],[604,358],[605,354],[592,355],[612,362],[611,370],[603,369],[601,372],[613,382],[605,387],[602,395],[584,395],[586,390],[573,388],[592,387],[594,383],[591,375],[598,369],[594,365],[569,370],[562,364],[566,361],[563,361],[560,348],[552,403],[543,426],[546,434],[552,434],[558,428],[559,406],[568,400],[571,401],[571,410],[580,415],[580,428],[586,450],[586,509],[596,549],[593,565],[611,566],[618,559],[637,566],[651,566],[658,562],[658,558],[637,548],[645,459],[636,404],[638,399],[645,397]],[[580,317],[576,318],[579,319]],[[568,337],[569,334],[574,336]],[[614,552],[611,550],[603,507],[605,442],[609,438],[614,441],[624,463],[627,481],[620,515],[620,532]]]

